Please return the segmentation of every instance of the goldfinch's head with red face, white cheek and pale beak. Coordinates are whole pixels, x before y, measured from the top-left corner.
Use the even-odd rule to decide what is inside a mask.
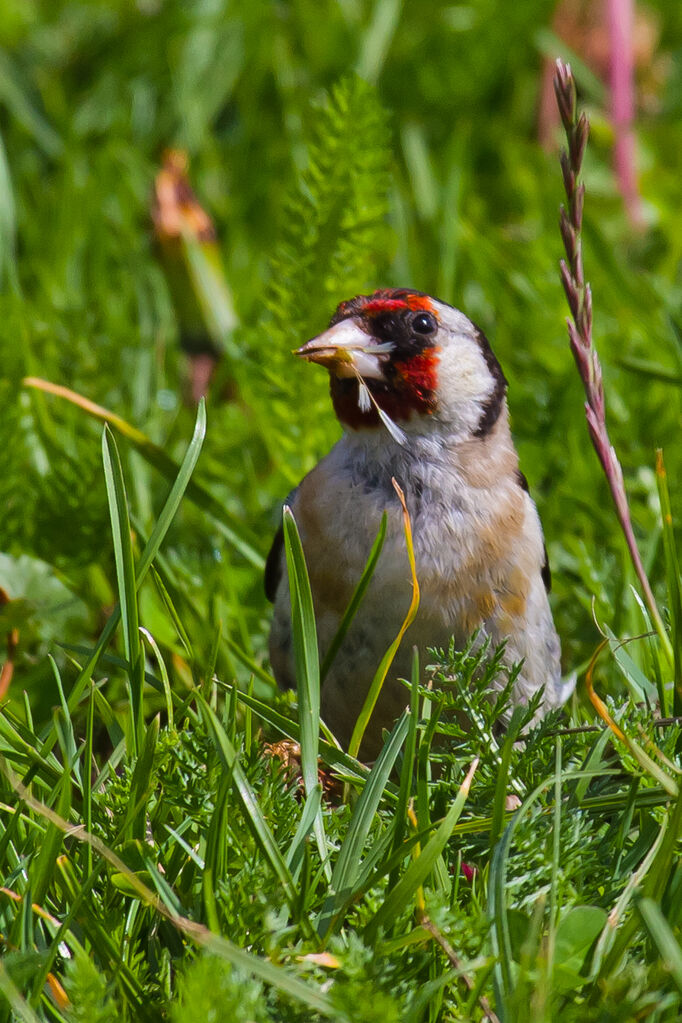
[[[420,292],[387,288],[342,302],[328,329],[297,354],[327,367],[334,410],[351,430],[388,416],[408,434],[438,424],[484,437],[505,407],[507,382],[483,332]]]

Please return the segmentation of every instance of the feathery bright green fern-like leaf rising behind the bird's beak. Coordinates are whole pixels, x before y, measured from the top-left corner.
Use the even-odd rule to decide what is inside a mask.
[[[344,79],[312,112],[312,124],[270,261],[266,314],[249,336],[256,365],[241,382],[254,402],[254,389],[267,388],[265,436],[273,457],[283,450],[299,475],[335,428],[322,374],[297,365],[291,349],[324,329],[344,298],[375,286],[388,240],[389,129],[375,91],[360,78]],[[292,405],[300,412],[293,432]]]

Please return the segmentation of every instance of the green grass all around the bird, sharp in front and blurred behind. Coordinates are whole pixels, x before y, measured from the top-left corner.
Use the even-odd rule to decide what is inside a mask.
[[[594,339],[671,668],[565,337],[560,173],[535,123],[552,4],[5,6],[0,1020],[678,1019],[682,740],[657,715],[682,662],[679,11],[654,5],[641,233],[579,75]],[[225,348],[206,408],[184,397],[152,238],[168,145],[225,269],[188,254]],[[508,694],[484,696],[508,680],[496,660],[415,659],[370,770],[319,721],[292,520],[293,695],[269,673],[262,568],[282,498],[338,432],[324,374],[290,350],[390,284],[461,307],[502,361],[580,678],[519,743],[525,715],[500,735]],[[584,681],[602,636],[589,675],[616,730]],[[283,737],[301,780],[270,750]]]

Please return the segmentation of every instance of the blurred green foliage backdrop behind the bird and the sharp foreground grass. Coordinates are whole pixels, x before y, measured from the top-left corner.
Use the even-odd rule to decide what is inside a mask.
[[[72,658],[92,648],[117,588],[100,428],[21,380],[73,388],[182,456],[195,410],[183,397],[184,357],[149,215],[168,145],[189,152],[241,324],[209,402],[195,474],[239,534],[264,557],[279,502],[337,436],[324,374],[299,365],[291,348],[323,327],[338,301],[407,284],[479,322],[509,377],[566,669],[584,664],[599,639],[593,604],[619,636],[645,629],[563,323],[560,175],[537,141],[553,8],[548,0],[5,0],[0,585],[12,599],[0,626],[19,630],[9,703],[36,735],[59,703],[47,653],[69,693]],[[652,466],[661,446],[679,507],[682,9],[665,0],[649,9],[665,75],[637,125],[642,232],[628,224],[615,186],[604,96],[593,79],[578,78],[593,126],[585,264],[608,422],[665,605]],[[120,447],[139,553],[169,482]],[[156,567],[191,656],[162,587],[150,581],[140,593],[141,623],[174,690],[206,681],[214,665],[221,678],[247,682],[231,643],[264,663],[258,561],[183,502]],[[111,654],[122,655],[116,642]],[[629,650],[652,670],[647,644]],[[622,697],[612,662],[599,670],[599,685]],[[112,713],[123,718],[125,671],[112,659],[105,671]],[[256,692],[271,696],[261,679]],[[147,709],[156,704],[150,693]],[[115,732],[109,722],[107,740],[102,727],[102,748]],[[368,983],[365,967],[357,975],[364,979],[349,984]],[[202,977],[188,976],[181,997],[193,999]],[[77,980],[94,990],[97,978],[88,980],[84,966]],[[225,974],[220,984],[226,1006],[259,1005],[251,980]],[[100,1015],[89,1018],[110,1018],[109,992],[92,997]]]

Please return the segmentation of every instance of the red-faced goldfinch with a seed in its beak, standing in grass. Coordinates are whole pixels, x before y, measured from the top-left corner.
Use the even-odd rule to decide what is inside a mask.
[[[391,666],[361,753],[375,756],[382,730],[407,701],[401,678],[412,648],[457,649],[475,633],[503,662],[522,662],[511,694],[538,691],[540,719],[573,688],[562,682],[550,610],[542,526],[518,468],[507,380],[484,332],[458,309],[410,288],[342,302],[329,326],[295,353],[329,373],[343,435],[289,494],[310,576],[323,657],[363,572],[381,519],[387,533],[364,603],[323,680],[320,712],[344,748],[379,662],[410,605],[402,509],[405,493],[416,575],[417,616]],[[295,687],[282,530],[266,562],[274,604],[270,663]],[[409,641],[408,641],[409,640]],[[500,683],[503,684],[503,683]]]

